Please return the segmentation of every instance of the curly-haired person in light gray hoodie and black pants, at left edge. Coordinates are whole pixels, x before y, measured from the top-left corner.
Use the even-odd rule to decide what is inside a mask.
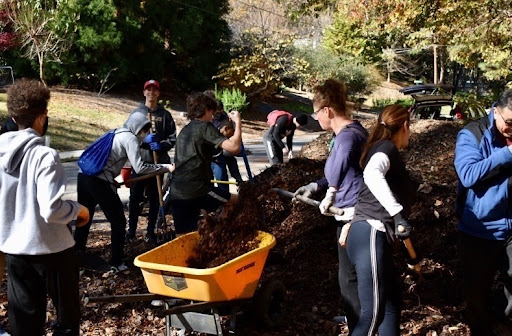
[[[54,335],[79,334],[78,267],[68,224],[84,225],[89,211],[62,200],[64,168],[41,138],[49,99],[43,83],[17,80],[7,91],[7,109],[19,130],[0,135],[0,251],[14,336],[45,333],[47,294],[57,309]]]

